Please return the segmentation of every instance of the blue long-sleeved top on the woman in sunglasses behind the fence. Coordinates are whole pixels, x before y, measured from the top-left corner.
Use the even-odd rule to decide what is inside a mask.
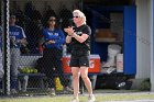
[[[62,50],[62,46],[65,43],[65,35],[61,29],[55,29],[54,31],[44,29],[43,35],[45,42],[51,39],[55,41],[54,44],[45,44],[47,48],[58,48]]]

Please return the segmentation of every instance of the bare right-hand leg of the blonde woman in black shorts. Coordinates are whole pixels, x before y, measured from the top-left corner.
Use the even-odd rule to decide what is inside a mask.
[[[92,94],[91,81],[88,78],[88,67],[80,67],[80,73],[81,73],[81,79],[84,80],[84,83],[88,90],[88,93]]]

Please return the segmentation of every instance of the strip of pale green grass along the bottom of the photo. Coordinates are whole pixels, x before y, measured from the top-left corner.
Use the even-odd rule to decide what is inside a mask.
[[[70,102],[72,95],[57,95],[57,97],[19,97],[19,98],[2,98],[0,102]],[[79,97],[80,102],[87,102],[87,94]],[[96,102],[103,101],[120,101],[120,100],[142,100],[153,99],[154,93],[97,93]]]

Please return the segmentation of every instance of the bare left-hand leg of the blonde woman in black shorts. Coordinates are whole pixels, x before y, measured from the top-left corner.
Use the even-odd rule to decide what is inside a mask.
[[[78,99],[78,93],[79,93],[79,76],[80,76],[79,70],[80,69],[78,67],[72,67],[74,97],[76,99]]]

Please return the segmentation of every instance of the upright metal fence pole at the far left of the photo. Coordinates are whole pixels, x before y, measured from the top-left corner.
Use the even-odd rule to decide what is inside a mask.
[[[9,38],[9,0],[2,0],[3,68],[4,94],[10,95],[10,38]]]

